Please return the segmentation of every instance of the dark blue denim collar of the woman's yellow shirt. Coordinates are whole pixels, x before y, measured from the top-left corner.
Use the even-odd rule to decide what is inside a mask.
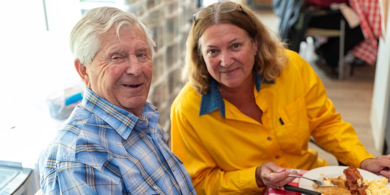
[[[256,76],[255,85],[256,90],[260,91],[260,83],[274,84],[273,80],[267,81],[263,78],[263,76]],[[216,109],[219,109],[219,113],[222,117],[225,118],[225,103],[223,102],[222,96],[219,93],[218,87],[216,86],[216,81],[212,79],[210,81],[210,90],[207,94],[202,96],[202,100],[200,102],[200,110],[199,116],[209,114]]]

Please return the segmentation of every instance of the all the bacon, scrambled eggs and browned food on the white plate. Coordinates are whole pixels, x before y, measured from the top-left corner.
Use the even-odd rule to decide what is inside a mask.
[[[390,187],[386,186],[388,183],[386,177],[364,180],[354,167],[345,169],[344,176],[323,177],[323,180],[330,180],[334,186],[322,187],[314,184],[314,190],[322,195],[390,195]]]

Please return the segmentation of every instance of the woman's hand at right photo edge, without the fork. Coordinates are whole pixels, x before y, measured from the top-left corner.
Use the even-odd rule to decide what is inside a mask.
[[[367,158],[360,163],[360,168],[390,179],[390,155]]]

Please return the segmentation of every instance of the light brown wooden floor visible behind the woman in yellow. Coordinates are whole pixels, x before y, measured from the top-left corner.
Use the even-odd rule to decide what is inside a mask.
[[[271,30],[277,30],[277,17],[271,9],[256,9],[260,20],[265,23]],[[302,57],[308,60],[313,69],[321,77],[326,87],[328,97],[332,100],[336,112],[340,113],[344,121],[350,122],[356,130],[356,133],[367,148],[374,156],[380,153],[375,150],[371,126],[370,126],[370,106],[373,91],[375,66],[365,65],[356,66],[354,74],[350,76],[349,68],[345,68],[345,79],[338,80],[327,77],[327,75],[315,64],[316,55],[310,50],[302,54]],[[319,156],[328,161],[329,165],[338,165],[334,156],[318,149],[310,144],[310,148],[317,149]]]

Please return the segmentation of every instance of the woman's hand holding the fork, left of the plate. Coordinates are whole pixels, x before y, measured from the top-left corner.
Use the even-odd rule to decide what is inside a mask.
[[[289,174],[298,173],[296,171],[290,173],[273,162],[266,162],[256,168],[256,183],[259,187],[267,186],[268,188],[283,189],[284,185],[294,180],[294,177],[289,177]]]

